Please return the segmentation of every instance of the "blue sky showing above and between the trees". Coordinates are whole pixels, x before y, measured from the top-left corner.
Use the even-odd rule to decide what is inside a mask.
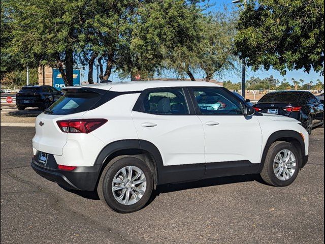
[[[231,3],[231,0],[210,0],[210,4],[212,5],[207,11],[222,11],[224,6],[226,6],[228,9],[234,8],[234,4]],[[104,67],[105,68],[105,67]],[[83,79],[85,80],[88,74],[87,68],[83,71]],[[294,70],[294,71],[287,71],[285,76],[281,76],[280,73],[276,70],[270,69],[268,71],[266,70],[258,70],[257,72],[251,71],[249,68],[246,71],[246,79],[249,79],[250,77],[259,77],[259,78],[265,78],[265,77],[270,77],[273,75],[275,79],[278,79],[282,81],[284,78],[291,83],[291,79],[294,78],[295,80],[303,79],[305,83],[309,81],[316,81],[317,79],[320,79],[322,82],[324,82],[324,77],[320,76],[319,73],[315,73],[313,70],[310,71],[310,73],[305,73],[303,70]],[[160,77],[164,78],[176,78],[176,76],[171,73],[171,72],[164,72]],[[196,78],[204,78],[203,73],[196,73],[194,74],[194,77]],[[187,78],[187,77],[186,77]],[[228,73],[228,74],[223,74],[222,76],[215,75],[215,79],[219,81],[226,81],[226,80],[231,80],[233,83],[241,82],[241,74],[235,74],[235,72]],[[93,79],[94,82],[96,82],[96,69],[93,71]],[[130,79],[120,79],[118,78],[118,75],[113,72],[113,74],[110,76],[110,80],[113,82],[117,81],[129,81]]]

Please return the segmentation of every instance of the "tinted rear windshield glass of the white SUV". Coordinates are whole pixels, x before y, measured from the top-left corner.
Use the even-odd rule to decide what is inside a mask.
[[[94,92],[82,91],[67,92],[52,104],[52,114],[72,114],[90,110],[98,103],[103,95]]]

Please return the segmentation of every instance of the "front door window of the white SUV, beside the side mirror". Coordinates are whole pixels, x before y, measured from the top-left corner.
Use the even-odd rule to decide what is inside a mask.
[[[192,88],[201,114],[243,114],[240,102],[222,88]]]

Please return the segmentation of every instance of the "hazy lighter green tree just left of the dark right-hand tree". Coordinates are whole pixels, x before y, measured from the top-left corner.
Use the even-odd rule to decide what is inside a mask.
[[[191,14],[194,18],[188,22],[190,28],[183,37],[186,42],[171,46],[171,51],[164,57],[166,66],[176,74],[187,74],[190,78],[193,78],[192,72],[203,71],[206,81],[215,73],[221,75],[234,70],[238,61],[233,43],[236,14],[226,9],[209,15]]]

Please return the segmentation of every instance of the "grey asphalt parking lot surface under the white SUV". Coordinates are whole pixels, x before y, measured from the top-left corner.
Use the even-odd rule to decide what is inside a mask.
[[[254,175],[166,185],[127,215],[94,192],[37,175],[34,133],[1,127],[1,243],[323,243],[323,128],[313,131],[309,163],[289,187]]]

